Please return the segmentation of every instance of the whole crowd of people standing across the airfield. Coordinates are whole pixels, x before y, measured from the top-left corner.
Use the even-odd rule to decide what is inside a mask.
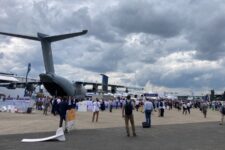
[[[207,117],[207,110],[219,110],[221,112],[221,122],[224,123],[225,115],[225,103],[218,101],[199,101],[199,100],[171,100],[171,99],[150,99],[147,97],[141,98],[131,98],[130,95],[127,97],[116,97],[114,99],[91,99],[92,101],[92,122],[98,122],[99,112],[108,110],[110,113],[113,109],[121,109],[122,117],[125,120],[125,127],[127,136],[130,136],[129,124],[131,124],[132,134],[136,136],[135,132],[135,121],[133,116],[133,111],[142,112],[145,115],[145,121],[143,122],[143,127],[151,128],[151,114],[153,111],[158,111],[159,117],[164,117],[165,109],[172,110],[177,109],[178,112],[181,111],[183,115],[188,115],[191,113],[191,109],[199,109],[204,118]],[[59,127],[63,126],[63,121],[65,121],[66,127],[66,112],[69,109],[78,109],[77,103],[80,100],[73,97],[56,97],[56,98],[39,98],[36,102],[36,109],[43,110],[43,114],[47,115],[48,110],[51,108],[51,113],[53,115],[59,115]],[[65,128],[65,132],[68,130]]]

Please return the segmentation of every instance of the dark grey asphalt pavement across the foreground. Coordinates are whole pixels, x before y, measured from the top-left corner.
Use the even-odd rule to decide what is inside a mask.
[[[54,132],[0,135],[0,150],[224,150],[225,125],[218,122],[136,127],[137,137],[127,137],[125,127],[75,129],[66,141],[22,143],[23,138],[43,138]]]

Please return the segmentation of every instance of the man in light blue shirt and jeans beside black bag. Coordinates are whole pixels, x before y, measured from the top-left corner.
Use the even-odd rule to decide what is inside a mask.
[[[149,127],[151,127],[151,113],[153,110],[153,104],[149,99],[146,99],[144,102],[144,112],[145,112],[145,119],[148,123]]]

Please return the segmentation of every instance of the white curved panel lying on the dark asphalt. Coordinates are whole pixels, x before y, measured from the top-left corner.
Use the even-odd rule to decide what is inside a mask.
[[[21,142],[44,142],[49,140],[58,140],[58,141],[65,141],[65,135],[63,132],[63,128],[58,128],[56,134],[53,136],[49,136],[46,138],[39,138],[39,139],[22,139]]]

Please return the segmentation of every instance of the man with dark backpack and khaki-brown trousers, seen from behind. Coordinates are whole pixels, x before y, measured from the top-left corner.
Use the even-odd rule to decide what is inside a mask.
[[[126,131],[127,131],[128,137],[130,136],[129,121],[131,123],[133,136],[136,136],[135,126],[134,126],[133,109],[134,109],[134,105],[132,104],[132,102],[130,100],[130,95],[128,95],[127,100],[125,101],[123,108],[122,108],[122,116],[125,119],[125,126],[126,126]]]

